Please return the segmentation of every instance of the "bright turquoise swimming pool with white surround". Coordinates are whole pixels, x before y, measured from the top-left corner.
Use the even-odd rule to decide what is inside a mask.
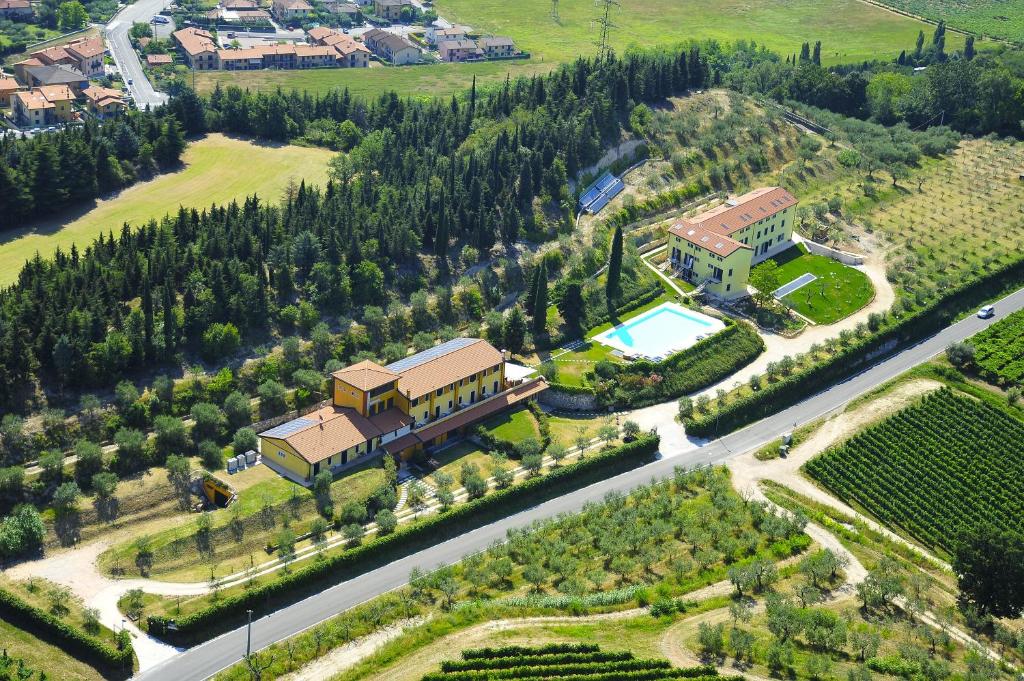
[[[663,303],[594,337],[623,354],[664,359],[725,329],[721,320],[676,303]]]

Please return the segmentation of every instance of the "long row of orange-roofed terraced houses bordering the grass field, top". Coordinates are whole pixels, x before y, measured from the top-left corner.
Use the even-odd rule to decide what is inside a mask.
[[[365,68],[369,50],[343,33],[314,29],[312,44],[257,45],[243,49],[217,46],[213,34],[197,28],[174,32],[186,65],[196,71],[253,71],[258,69]]]

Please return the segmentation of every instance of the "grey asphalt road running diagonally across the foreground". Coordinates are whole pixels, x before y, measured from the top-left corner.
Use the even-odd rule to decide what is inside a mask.
[[[970,316],[938,334],[908,347],[898,354],[874,365],[870,369],[839,383],[808,399],[779,412],[746,428],[735,431],[703,446],[663,452],[664,458],[594,483],[558,499],[498,520],[489,525],[466,533],[418,553],[396,560],[389,565],[366,572],[347,582],[327,589],[253,623],[252,645],[254,650],[288,638],[332,618],[339,612],[362,603],[406,584],[413,567],[433,568],[459,561],[463,556],[480,551],[495,541],[504,540],[509,529],[559,513],[579,511],[588,502],[599,501],[607,493],[628,492],[646,484],[652,477],[672,474],[677,466],[693,467],[720,463],[726,459],[764,445],[794,426],[808,423],[838,410],[855,397],[870,391],[913,367],[942,352],[947,345],[965,340],[983,328],[1010,313],[1024,308],[1024,289],[995,303],[994,320]],[[242,659],[246,649],[246,630],[237,629],[180,655],[154,667],[138,678],[145,681],[180,681],[205,679]]]

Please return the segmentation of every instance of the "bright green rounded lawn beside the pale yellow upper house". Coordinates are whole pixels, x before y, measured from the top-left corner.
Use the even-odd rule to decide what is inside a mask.
[[[779,286],[801,274],[817,276],[782,298],[782,302],[817,324],[834,324],[871,301],[874,288],[867,274],[823,255],[811,255],[796,246],[773,258],[778,263]]]

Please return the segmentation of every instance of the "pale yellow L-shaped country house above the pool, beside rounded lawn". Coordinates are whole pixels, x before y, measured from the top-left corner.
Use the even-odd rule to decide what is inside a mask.
[[[751,267],[788,248],[797,200],[779,186],[754,189],[669,228],[673,268],[723,300],[746,295]]]

